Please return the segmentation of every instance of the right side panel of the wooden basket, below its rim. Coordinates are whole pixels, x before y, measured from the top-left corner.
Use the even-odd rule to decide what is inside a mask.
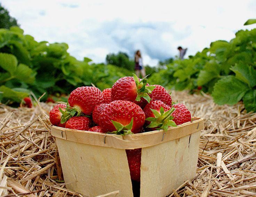
[[[165,197],[196,174],[200,131],[142,149],[141,197]]]

